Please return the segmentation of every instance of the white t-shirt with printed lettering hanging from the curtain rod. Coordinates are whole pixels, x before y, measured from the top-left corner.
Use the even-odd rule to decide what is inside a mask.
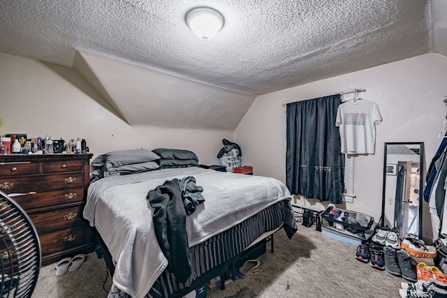
[[[382,117],[379,106],[369,100],[346,101],[338,106],[336,126],[339,126],[342,153],[374,154],[376,125]]]

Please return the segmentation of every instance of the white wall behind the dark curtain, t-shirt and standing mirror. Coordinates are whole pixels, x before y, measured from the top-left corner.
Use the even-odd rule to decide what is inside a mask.
[[[254,166],[254,174],[285,181],[286,113],[283,104],[353,88],[367,89],[360,96],[379,105],[383,122],[376,129],[376,153],[356,158],[354,188],[357,198],[344,207],[369,214],[379,221],[383,143],[425,142],[427,168],[447,114],[443,102],[447,96],[447,57],[424,54],[258,96],[236,128],[235,142],[244,152],[243,163]],[[298,202],[305,203],[317,204],[316,200]],[[326,205],[317,207],[323,209]],[[430,216],[426,215],[425,219],[428,218]],[[430,222],[424,225],[423,232],[430,236]]]

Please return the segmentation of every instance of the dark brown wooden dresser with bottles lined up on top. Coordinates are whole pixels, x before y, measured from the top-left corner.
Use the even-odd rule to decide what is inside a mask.
[[[42,265],[94,249],[89,225],[82,218],[92,155],[0,156],[0,189],[20,194],[12,198],[36,226]]]

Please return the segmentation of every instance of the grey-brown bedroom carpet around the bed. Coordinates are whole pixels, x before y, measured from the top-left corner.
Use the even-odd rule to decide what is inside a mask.
[[[258,274],[239,278],[226,289],[208,289],[208,298],[249,297],[398,297],[404,278],[379,271],[354,258],[356,246],[325,237],[315,225],[288,240],[284,230],[274,237],[274,253],[258,258]],[[55,263],[54,263],[55,265]],[[33,297],[107,297],[103,283],[105,262],[95,253],[87,255],[80,269],[54,276],[54,265],[42,267]],[[110,278],[105,288],[110,288]]]

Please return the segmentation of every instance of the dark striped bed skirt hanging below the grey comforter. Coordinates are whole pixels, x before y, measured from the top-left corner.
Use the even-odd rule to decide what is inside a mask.
[[[152,285],[146,298],[182,297],[196,285],[206,283],[222,274],[237,258],[237,255],[240,255],[254,240],[265,232],[280,228],[281,225],[284,225],[289,237],[291,237],[290,230],[296,230],[290,200],[277,202],[233,228],[189,248],[192,272],[188,281],[177,283],[175,275],[166,269]],[[108,297],[129,298],[130,296],[112,285]]]

